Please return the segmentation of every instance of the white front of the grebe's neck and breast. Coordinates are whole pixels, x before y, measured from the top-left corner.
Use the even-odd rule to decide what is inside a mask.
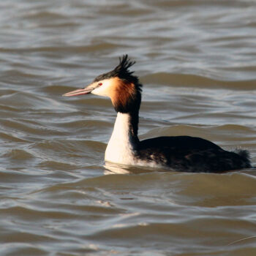
[[[131,116],[129,113],[117,113],[115,126],[105,151],[105,160],[124,165],[135,162],[137,136],[132,136]]]

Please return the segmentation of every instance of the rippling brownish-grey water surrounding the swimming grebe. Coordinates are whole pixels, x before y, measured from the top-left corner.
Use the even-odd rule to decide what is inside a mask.
[[[116,113],[81,88],[128,53],[140,138],[194,135],[256,165],[255,1],[0,3],[0,255],[256,254],[254,169],[105,165]]]

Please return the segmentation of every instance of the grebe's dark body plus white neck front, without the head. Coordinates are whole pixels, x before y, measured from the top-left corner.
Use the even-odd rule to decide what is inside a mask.
[[[211,141],[190,136],[138,140],[130,133],[131,116],[118,113],[105,160],[123,165],[164,167],[184,172],[223,172],[250,167],[247,151],[225,151]]]

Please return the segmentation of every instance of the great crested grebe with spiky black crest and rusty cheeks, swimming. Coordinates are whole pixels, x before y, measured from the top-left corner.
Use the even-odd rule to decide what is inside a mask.
[[[86,88],[64,94],[67,97],[83,94],[110,97],[117,117],[105,151],[105,161],[207,173],[251,167],[248,151],[225,151],[203,138],[175,136],[140,141],[138,121],[142,84],[129,71],[133,64],[135,61],[124,55],[119,58],[118,66],[97,76]]]

